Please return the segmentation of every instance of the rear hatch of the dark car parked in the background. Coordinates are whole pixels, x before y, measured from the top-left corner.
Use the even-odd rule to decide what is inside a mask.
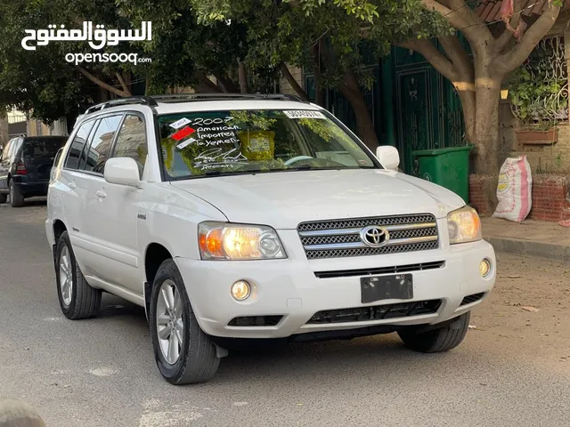
[[[49,181],[55,155],[66,141],[66,137],[29,138],[24,141],[20,157],[29,181]]]

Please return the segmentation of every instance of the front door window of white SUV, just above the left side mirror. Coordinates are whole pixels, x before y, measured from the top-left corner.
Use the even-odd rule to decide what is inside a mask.
[[[131,157],[139,166],[139,177],[142,179],[144,162],[146,161],[146,132],[142,117],[127,114],[117,136],[113,157]]]

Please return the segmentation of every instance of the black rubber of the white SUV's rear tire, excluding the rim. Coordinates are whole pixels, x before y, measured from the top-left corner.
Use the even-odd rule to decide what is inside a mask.
[[[61,291],[61,254],[69,254],[69,268],[72,286],[69,304]],[[55,253],[55,279],[57,282],[57,295],[60,299],[61,311],[66,318],[77,320],[80,318],[93,318],[101,305],[101,290],[89,286],[83,273],[79,269],[73,248],[69,241],[67,231],[63,231],[57,242]]]

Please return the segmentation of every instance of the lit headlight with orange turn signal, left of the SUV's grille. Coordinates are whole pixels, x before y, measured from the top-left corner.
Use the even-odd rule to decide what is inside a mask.
[[[202,260],[276,260],[287,258],[275,230],[263,225],[202,222],[198,226]]]

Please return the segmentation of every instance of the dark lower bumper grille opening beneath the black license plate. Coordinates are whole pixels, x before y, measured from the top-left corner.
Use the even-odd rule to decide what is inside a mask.
[[[365,322],[387,318],[409,318],[420,314],[436,313],[441,300],[403,302],[354,309],[324,310],[316,313],[307,324]]]

